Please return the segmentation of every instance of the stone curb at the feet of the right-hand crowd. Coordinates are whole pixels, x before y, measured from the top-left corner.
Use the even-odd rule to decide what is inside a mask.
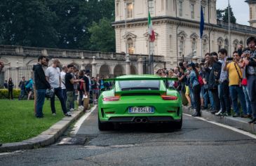
[[[194,113],[193,110],[190,110],[187,106],[183,106],[183,113],[187,113],[189,115],[192,115]],[[247,132],[256,133],[256,124],[249,124],[248,121],[250,119],[248,118],[233,118],[231,116],[215,116],[212,113],[208,111],[202,111],[201,110],[201,117],[205,118],[207,120],[211,120],[217,123],[222,123],[224,125],[229,125],[231,127],[235,127],[241,130],[245,130]]]

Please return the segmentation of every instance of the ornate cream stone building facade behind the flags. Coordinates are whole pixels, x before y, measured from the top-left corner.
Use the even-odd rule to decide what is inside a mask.
[[[256,8],[253,0],[247,1]],[[243,2],[242,2],[243,3]],[[200,13],[203,6],[205,29],[200,39]],[[208,52],[227,48],[233,52],[245,45],[249,36],[256,36],[255,11],[250,25],[228,24],[216,18],[216,0],[115,0],[117,53],[163,55],[166,67],[175,67],[186,57],[199,59]],[[156,41],[148,42],[147,17],[151,15]]]

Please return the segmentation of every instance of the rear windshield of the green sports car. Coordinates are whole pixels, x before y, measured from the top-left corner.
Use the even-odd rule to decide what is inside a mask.
[[[159,80],[119,81],[121,90],[159,90]]]

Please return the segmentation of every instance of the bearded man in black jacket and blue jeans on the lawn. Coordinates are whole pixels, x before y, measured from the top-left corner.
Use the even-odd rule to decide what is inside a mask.
[[[43,67],[46,63],[46,57],[41,55],[38,63],[33,66],[34,83],[36,88],[36,118],[43,118],[43,103],[46,97],[46,89],[50,88],[50,83],[46,81]]]

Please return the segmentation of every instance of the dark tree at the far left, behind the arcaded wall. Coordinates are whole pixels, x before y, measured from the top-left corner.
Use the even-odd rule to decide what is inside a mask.
[[[56,47],[56,15],[45,1],[1,0],[1,44]]]

